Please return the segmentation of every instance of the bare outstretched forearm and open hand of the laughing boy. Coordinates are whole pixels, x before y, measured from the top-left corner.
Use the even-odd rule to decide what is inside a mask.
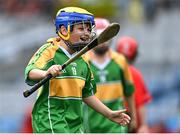
[[[83,101],[89,105],[91,108],[96,110],[98,113],[104,115],[109,120],[116,122],[120,125],[127,125],[130,122],[130,117],[125,114],[126,109],[112,111],[108,107],[106,107],[96,96],[89,96],[87,98],[83,98]]]

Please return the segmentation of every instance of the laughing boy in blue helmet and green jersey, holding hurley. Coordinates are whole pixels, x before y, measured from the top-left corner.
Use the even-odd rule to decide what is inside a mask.
[[[52,74],[42,86],[32,111],[34,133],[82,133],[82,102],[120,125],[127,125],[126,110],[112,111],[94,96],[96,85],[88,63],[79,57],[65,69],[61,65],[92,39],[94,16],[78,7],[60,9],[55,19],[59,37],[47,41],[25,69],[26,83],[34,85]],[[80,45],[81,44],[81,45]]]

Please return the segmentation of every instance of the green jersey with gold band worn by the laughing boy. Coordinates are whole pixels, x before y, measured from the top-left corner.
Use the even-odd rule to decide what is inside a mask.
[[[60,44],[61,45],[61,44]],[[26,82],[34,85],[28,73],[32,69],[47,70],[50,66],[62,65],[72,55],[56,41],[43,45],[31,58],[25,70]],[[35,133],[80,133],[83,132],[82,98],[96,92],[89,65],[78,58],[68,65],[62,74],[42,86],[32,112]]]

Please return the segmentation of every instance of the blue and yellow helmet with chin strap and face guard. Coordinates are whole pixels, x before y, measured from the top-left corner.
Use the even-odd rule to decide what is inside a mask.
[[[65,44],[74,51],[79,51],[80,49],[85,47],[85,45],[87,44],[87,43],[81,43],[81,42],[71,44],[68,41],[70,38],[70,32],[73,30],[73,25],[79,24],[79,23],[81,24],[88,23],[92,31],[92,28],[95,26],[93,14],[89,13],[88,11],[82,8],[67,7],[67,8],[63,8],[59,10],[56,15],[56,20],[55,20],[56,33],[64,40]],[[62,25],[65,26],[68,31],[67,36],[62,35],[59,32],[59,28]]]

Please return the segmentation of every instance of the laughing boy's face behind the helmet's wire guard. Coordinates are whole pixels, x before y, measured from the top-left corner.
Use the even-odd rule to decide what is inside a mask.
[[[77,42],[89,42],[91,39],[91,27],[88,23],[79,23],[73,26],[69,41],[74,44]]]

